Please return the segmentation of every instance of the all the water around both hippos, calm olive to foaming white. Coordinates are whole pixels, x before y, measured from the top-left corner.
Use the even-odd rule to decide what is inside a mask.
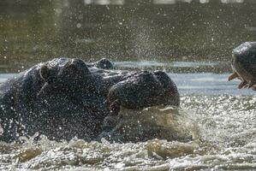
[[[255,170],[255,91],[228,81],[231,50],[256,40],[255,11],[254,0],[1,0],[0,83],[53,57],[106,57],[166,71],[181,107],[122,109],[124,138],[161,126],[163,139],[0,142],[0,170]]]

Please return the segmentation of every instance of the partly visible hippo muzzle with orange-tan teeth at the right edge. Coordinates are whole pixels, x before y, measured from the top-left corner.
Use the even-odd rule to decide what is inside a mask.
[[[233,74],[229,80],[241,80],[238,88],[252,88],[256,90],[256,42],[245,42],[233,50]]]

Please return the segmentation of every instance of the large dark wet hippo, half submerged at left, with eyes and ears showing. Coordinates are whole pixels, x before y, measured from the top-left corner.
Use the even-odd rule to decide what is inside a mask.
[[[120,107],[180,105],[176,84],[162,71],[116,70],[102,59],[41,62],[0,85],[0,140],[36,133],[48,139],[97,139]]]

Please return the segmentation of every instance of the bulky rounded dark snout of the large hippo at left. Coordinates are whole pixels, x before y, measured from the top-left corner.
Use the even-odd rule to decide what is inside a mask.
[[[175,83],[164,72],[141,72],[110,88],[108,102],[113,114],[120,106],[127,109],[143,109],[155,105],[180,105]]]

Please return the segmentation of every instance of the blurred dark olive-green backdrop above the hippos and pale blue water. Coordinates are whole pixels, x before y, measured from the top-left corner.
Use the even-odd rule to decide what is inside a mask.
[[[53,57],[229,62],[256,40],[253,0],[1,0],[0,71]]]

